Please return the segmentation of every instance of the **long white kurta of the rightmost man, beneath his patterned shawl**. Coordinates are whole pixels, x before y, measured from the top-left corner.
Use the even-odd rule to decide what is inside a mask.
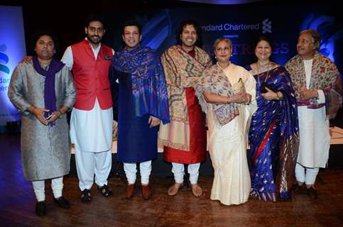
[[[306,87],[310,87],[313,60],[304,60]],[[318,90],[319,104],[325,103],[322,90]],[[325,167],[329,159],[330,123],[325,113],[325,106],[308,109],[298,106],[299,118],[299,153],[297,162],[304,167]]]

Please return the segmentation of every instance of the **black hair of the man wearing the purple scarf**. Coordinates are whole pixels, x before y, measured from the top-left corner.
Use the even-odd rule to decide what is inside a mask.
[[[53,43],[55,45],[55,50],[56,50],[54,57],[56,59],[60,59],[60,42],[58,41],[58,38],[57,38],[57,35],[55,35],[55,32],[48,29],[47,30],[40,29],[31,35],[31,41],[28,48],[28,55],[36,55],[36,51],[35,51],[36,43],[38,39],[42,37],[43,35],[48,35],[53,40]]]

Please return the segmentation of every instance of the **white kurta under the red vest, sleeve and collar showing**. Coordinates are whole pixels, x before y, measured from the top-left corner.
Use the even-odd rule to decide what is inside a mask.
[[[92,45],[91,45],[92,47]],[[92,47],[95,59],[101,48]],[[112,52],[114,52],[112,50]],[[72,48],[68,47],[62,57],[62,62],[72,69]],[[70,119],[70,139],[75,148],[82,152],[104,152],[111,149],[112,144],[112,108],[101,109],[97,99],[91,111],[73,108]]]

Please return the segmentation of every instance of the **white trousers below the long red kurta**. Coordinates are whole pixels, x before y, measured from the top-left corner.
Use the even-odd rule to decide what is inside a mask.
[[[174,174],[175,182],[182,184],[183,176],[185,175],[185,165],[180,163],[172,162],[172,172]],[[199,177],[200,163],[188,164],[188,173],[190,174],[190,184],[197,184]]]

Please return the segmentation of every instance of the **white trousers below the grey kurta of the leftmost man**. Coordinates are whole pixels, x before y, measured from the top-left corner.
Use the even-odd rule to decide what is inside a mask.
[[[32,185],[37,201],[45,201],[45,180],[35,180],[32,182]],[[53,196],[56,199],[62,196],[63,177],[51,179],[51,188],[53,189]]]

